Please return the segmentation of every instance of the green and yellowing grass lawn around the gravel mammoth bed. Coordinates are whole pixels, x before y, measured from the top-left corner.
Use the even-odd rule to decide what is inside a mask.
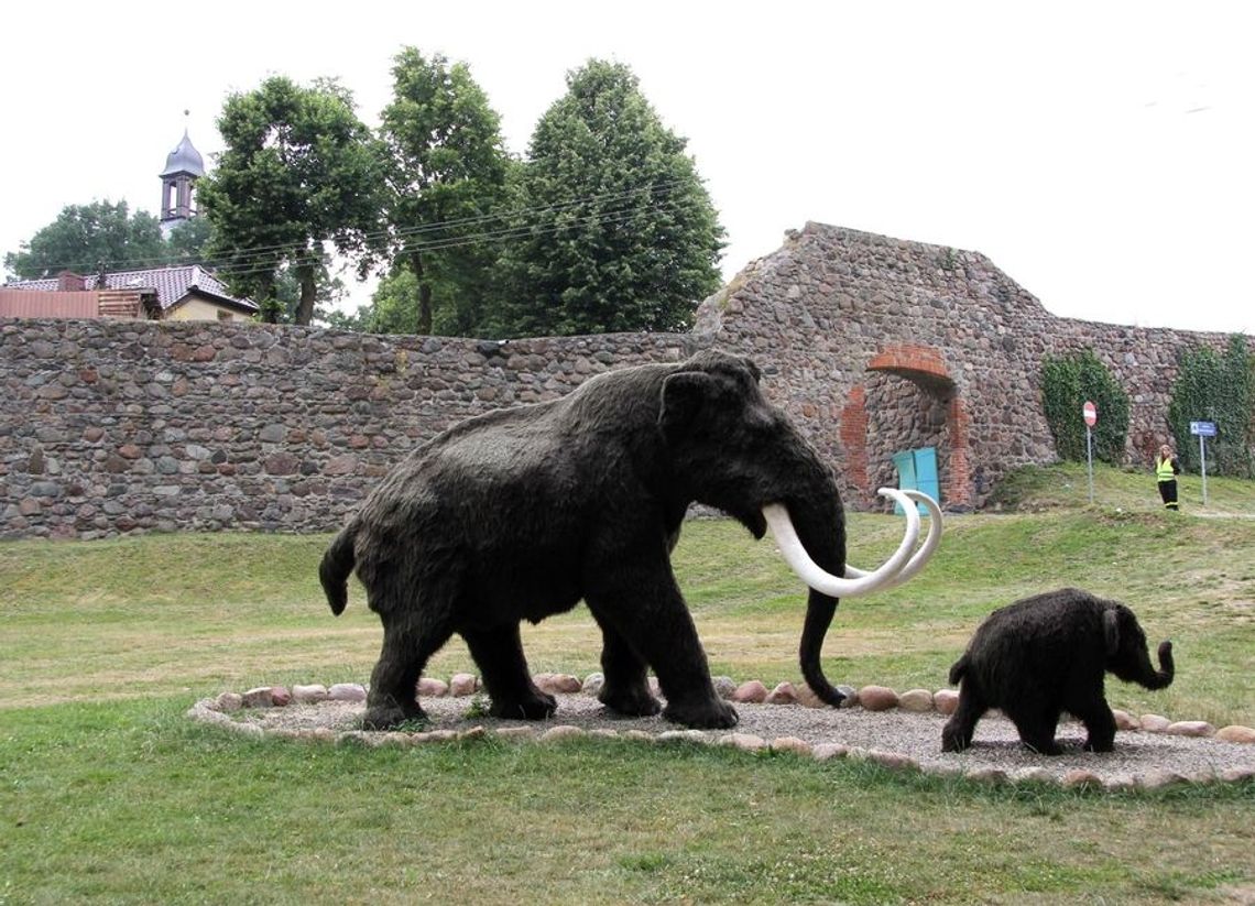
[[[1255,724],[1255,484],[1158,511],[1146,476],[1017,476],[953,517],[912,582],[842,602],[836,683],[945,685],[994,607],[1077,585],[1118,597],[1176,683],[1113,706]],[[900,522],[851,518],[872,566]],[[0,903],[1224,902],[1255,895],[1255,784],[985,787],[705,747],[497,740],[361,749],[193,724],[198,698],[364,683],[378,620],[333,617],[328,538],[0,545]],[[769,541],[685,527],[675,568],[714,673],[799,680],[803,590]],[[599,668],[581,607],[525,629],[533,670]],[[429,673],[473,670],[454,640]]]

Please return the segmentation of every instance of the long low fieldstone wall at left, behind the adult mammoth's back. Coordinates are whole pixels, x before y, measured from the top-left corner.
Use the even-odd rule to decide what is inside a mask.
[[[329,531],[418,443],[688,335],[510,343],[310,328],[0,322],[0,537]]]

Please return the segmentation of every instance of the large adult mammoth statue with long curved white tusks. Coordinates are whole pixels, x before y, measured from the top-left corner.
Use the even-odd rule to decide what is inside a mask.
[[[410,453],[329,546],[319,575],[340,614],[356,567],[384,629],[364,725],[423,718],[415,686],[452,634],[467,642],[491,713],[541,719],[556,706],[531,679],[521,620],[537,622],[581,599],[601,629],[601,701],[699,728],[732,727],[671,572],[670,552],[694,501],[761,538],[771,523],[812,586],[802,674],[840,704],[820,666],[841,596],[914,573],[941,531],[930,498],[906,503],[907,531],[878,570],[846,565],[845,514],[833,473],[763,397],[748,359],[700,353],[674,365],[597,375],[567,397],[468,419]],[[931,526],[916,551],[926,506]]]

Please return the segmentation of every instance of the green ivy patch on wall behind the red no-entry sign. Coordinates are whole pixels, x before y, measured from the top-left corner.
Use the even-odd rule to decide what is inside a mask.
[[[1096,459],[1118,466],[1128,437],[1128,394],[1092,349],[1042,360],[1042,407],[1060,459],[1084,462],[1086,424],[1082,409],[1098,409],[1093,428]]]

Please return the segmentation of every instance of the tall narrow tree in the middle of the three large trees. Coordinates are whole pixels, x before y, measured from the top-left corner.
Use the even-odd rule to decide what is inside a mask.
[[[394,265],[375,307],[388,312],[390,330],[430,334],[453,324],[459,333],[474,330],[492,267],[484,236],[499,227],[511,166],[501,118],[463,63],[451,67],[439,54],[427,60],[405,48],[392,72],[393,102],[380,137]]]

